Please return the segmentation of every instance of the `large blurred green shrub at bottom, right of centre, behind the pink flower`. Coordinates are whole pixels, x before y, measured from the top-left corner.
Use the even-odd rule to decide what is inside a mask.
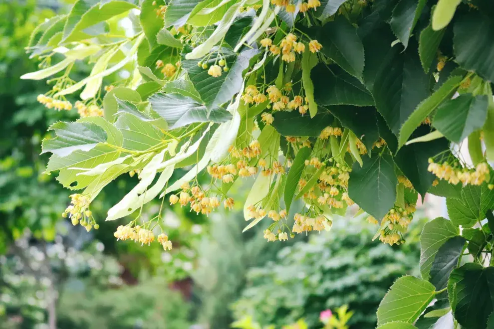
[[[312,234],[280,250],[276,260],[247,273],[247,284],[232,306],[236,319],[246,315],[262,326],[305,319],[320,328],[319,314],[348,305],[350,328],[375,328],[376,310],[389,286],[419,261],[415,225],[407,244],[390,247],[372,241],[377,226],[365,219],[337,218],[330,232]]]

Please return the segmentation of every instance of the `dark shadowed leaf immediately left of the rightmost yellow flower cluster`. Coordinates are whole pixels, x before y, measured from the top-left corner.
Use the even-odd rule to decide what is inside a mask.
[[[417,130],[417,134],[427,133],[430,127],[425,125]],[[398,151],[394,160],[396,165],[403,171],[405,176],[412,182],[413,187],[422,197],[431,187],[432,182],[437,178],[429,172],[429,158],[449,149],[450,143],[447,139],[441,138],[430,142],[414,143],[407,145]]]

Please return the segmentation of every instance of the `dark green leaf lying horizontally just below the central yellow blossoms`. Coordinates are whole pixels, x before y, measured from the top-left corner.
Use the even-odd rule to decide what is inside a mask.
[[[319,112],[314,118],[300,115],[298,111],[279,111],[273,115],[271,124],[283,136],[317,137],[322,130],[333,123],[334,118],[329,112]]]

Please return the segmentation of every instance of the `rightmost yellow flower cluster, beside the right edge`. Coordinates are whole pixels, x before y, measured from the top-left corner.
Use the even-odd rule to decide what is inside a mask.
[[[480,163],[475,167],[475,170],[470,170],[457,167],[456,165],[450,165],[448,162],[440,165],[435,163],[433,159],[429,159],[427,170],[435,174],[438,178],[447,180],[450,184],[454,185],[459,182],[462,182],[464,185],[481,185],[490,178],[490,168],[487,163]]]

